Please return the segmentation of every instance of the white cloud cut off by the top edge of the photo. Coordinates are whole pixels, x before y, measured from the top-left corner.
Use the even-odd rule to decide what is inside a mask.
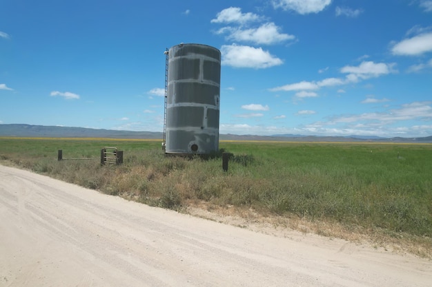
[[[274,8],[293,10],[299,14],[318,13],[331,4],[331,0],[273,0]]]

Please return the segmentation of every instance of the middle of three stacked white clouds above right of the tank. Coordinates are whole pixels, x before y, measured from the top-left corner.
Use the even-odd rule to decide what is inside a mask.
[[[271,45],[283,41],[294,40],[295,36],[281,32],[275,23],[264,23],[258,28],[232,28],[224,27],[219,29],[218,34],[228,33],[226,39],[233,41],[251,42],[256,44]]]

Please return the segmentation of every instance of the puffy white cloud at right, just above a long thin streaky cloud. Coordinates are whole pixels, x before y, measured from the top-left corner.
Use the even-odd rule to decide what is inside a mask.
[[[348,82],[358,82],[360,79],[376,78],[386,74],[397,72],[393,67],[395,63],[374,63],[373,61],[364,61],[358,66],[342,67],[340,72],[348,74],[346,80]]]

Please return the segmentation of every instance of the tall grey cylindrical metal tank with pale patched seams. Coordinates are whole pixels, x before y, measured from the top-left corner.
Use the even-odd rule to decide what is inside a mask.
[[[220,71],[215,47],[181,43],[168,50],[166,153],[219,150]]]

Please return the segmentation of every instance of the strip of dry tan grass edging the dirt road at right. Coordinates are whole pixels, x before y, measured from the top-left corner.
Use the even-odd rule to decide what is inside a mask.
[[[432,259],[432,246],[429,237],[389,234],[361,226],[346,226],[328,220],[311,220],[297,215],[281,216],[262,213],[254,209],[237,206],[215,206],[207,202],[189,202],[185,211],[193,216],[202,217],[223,224],[230,224],[251,231],[277,237],[297,237],[315,234],[329,238],[347,240],[355,244],[380,248],[398,254],[409,253],[418,257]]]

